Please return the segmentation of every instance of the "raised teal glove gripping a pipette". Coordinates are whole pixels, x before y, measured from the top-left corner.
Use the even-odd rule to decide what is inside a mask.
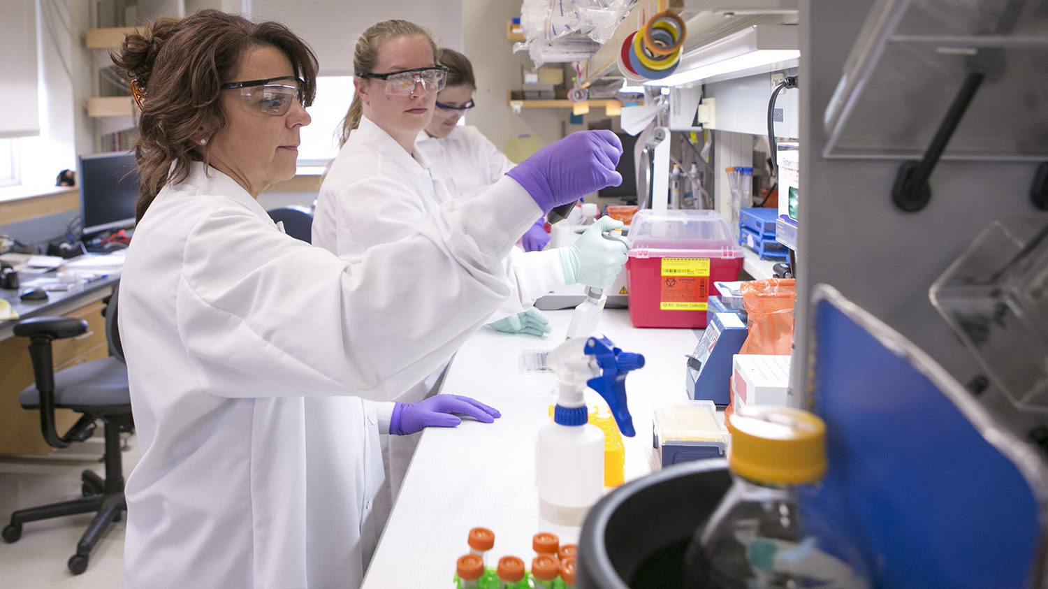
[[[626,265],[625,243],[605,239],[604,232],[617,230],[621,221],[601,217],[568,247],[560,247],[561,269],[568,284],[582,283],[593,288],[608,288]]]

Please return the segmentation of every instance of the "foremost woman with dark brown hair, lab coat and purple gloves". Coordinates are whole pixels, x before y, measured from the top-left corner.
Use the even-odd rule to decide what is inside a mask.
[[[483,325],[509,293],[512,242],[542,211],[621,181],[620,148],[562,145],[585,161],[569,166],[537,153],[516,191],[450,202],[349,262],[284,235],[256,200],[294,175],[315,88],[305,43],[202,10],[139,27],[113,61],[141,109],[119,292],[143,450],[124,585],[356,587],[385,501],[379,431],[498,416],[454,395],[372,401]]]

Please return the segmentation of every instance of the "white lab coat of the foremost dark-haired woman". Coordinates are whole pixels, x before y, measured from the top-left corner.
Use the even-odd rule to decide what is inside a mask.
[[[124,587],[357,587],[392,406],[358,397],[393,398],[483,325],[539,214],[508,180],[349,263],[282,235],[202,163],[160,191],[121,281],[143,450]]]

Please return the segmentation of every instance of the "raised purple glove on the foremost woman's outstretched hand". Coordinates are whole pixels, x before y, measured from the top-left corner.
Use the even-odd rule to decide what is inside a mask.
[[[577,131],[534,152],[506,175],[531,195],[542,214],[605,187],[617,187],[623,144],[607,130]]]

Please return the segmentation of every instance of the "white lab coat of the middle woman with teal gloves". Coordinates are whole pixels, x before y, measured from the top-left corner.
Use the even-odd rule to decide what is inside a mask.
[[[412,157],[386,131],[362,117],[321,186],[313,245],[358,260],[372,245],[415,234],[429,213],[452,199],[441,177],[427,152],[415,150]],[[525,254],[515,248],[505,270],[512,293],[492,321],[526,310],[538,298],[565,285],[560,253],[553,250]],[[436,289],[440,283],[420,286]]]

